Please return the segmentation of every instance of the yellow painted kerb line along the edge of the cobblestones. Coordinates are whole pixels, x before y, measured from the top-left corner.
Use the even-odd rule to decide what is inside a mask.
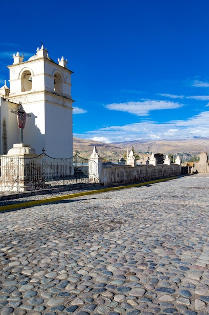
[[[16,203],[16,204],[9,204],[7,206],[0,206],[0,212],[1,211],[14,210],[14,209],[28,208],[28,207],[37,206],[37,205],[50,203],[50,202],[56,202],[56,201],[60,201],[60,200],[64,200],[64,199],[71,199],[71,198],[81,197],[81,196],[85,196],[85,195],[92,195],[92,194],[103,193],[103,192],[106,192],[106,191],[145,186],[145,185],[150,185],[150,184],[154,184],[154,183],[169,181],[169,180],[176,179],[176,178],[178,178],[178,177],[177,176],[173,176],[173,177],[169,177],[169,178],[162,178],[162,179],[153,180],[153,181],[149,181],[149,182],[138,183],[138,184],[131,184],[131,185],[126,185],[126,186],[117,186],[117,187],[109,187],[109,188],[103,188],[103,189],[98,189],[98,190],[91,190],[91,191],[87,191],[87,192],[83,192],[83,193],[77,193],[77,194],[71,194],[71,195],[63,195],[63,196],[51,197],[51,198],[45,198],[45,199],[33,200],[33,201],[25,201],[25,202]]]

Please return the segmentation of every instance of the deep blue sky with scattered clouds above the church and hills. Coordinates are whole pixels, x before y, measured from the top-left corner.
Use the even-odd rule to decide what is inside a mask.
[[[13,53],[28,60],[43,41],[74,71],[74,136],[209,136],[208,0],[11,0],[1,12],[0,85]]]

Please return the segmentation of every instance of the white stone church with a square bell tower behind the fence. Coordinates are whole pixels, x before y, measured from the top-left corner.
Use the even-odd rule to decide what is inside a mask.
[[[24,143],[37,154],[52,157],[73,156],[71,70],[63,57],[54,62],[47,49],[24,61],[19,52],[9,65],[10,89],[0,89],[0,154],[7,154],[15,143],[21,143],[17,122],[20,103],[28,115],[23,129]]]

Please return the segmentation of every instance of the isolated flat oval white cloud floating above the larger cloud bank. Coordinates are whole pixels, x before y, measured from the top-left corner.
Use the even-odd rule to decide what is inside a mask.
[[[152,110],[173,109],[182,106],[183,104],[170,101],[146,100],[143,102],[112,103],[105,107],[109,110],[127,112],[137,116],[148,116]]]

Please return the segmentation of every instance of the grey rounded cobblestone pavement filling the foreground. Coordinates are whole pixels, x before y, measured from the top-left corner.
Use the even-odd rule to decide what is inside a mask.
[[[2,315],[209,314],[208,175],[0,214]]]

